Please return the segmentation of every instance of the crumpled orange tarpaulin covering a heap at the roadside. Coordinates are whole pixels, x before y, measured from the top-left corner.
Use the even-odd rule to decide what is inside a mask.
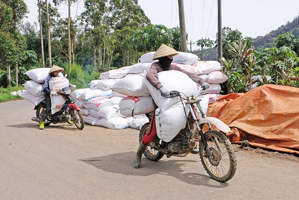
[[[207,116],[227,124],[232,143],[299,154],[299,88],[263,85],[247,93],[220,96]]]

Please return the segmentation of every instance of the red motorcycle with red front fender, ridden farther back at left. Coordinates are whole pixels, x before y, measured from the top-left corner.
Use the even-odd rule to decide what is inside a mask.
[[[71,92],[74,90],[74,87],[65,87],[61,90],[57,91],[57,94],[63,95],[66,100],[62,109],[54,114],[49,113],[47,119],[45,120],[45,126],[50,125],[51,123],[65,123],[70,119],[78,129],[84,128],[84,118],[80,111],[80,108],[75,104],[76,100],[71,97]],[[41,102],[37,106],[35,106],[34,110],[36,110],[36,117],[32,117],[32,121],[40,122],[41,113],[46,108],[46,104]]]

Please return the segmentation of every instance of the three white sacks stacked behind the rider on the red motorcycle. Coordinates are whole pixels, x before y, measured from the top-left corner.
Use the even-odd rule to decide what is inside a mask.
[[[36,68],[27,71],[25,74],[31,80],[23,84],[26,91],[23,91],[21,94],[19,94],[20,97],[23,97],[35,105],[38,105],[45,100],[43,85],[50,69],[51,68]],[[63,77],[63,74],[59,73],[59,76]]]

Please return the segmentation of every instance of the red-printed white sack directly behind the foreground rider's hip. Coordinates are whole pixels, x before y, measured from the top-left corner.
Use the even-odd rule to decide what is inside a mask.
[[[151,96],[125,97],[119,102],[120,114],[124,116],[140,115],[154,111]]]

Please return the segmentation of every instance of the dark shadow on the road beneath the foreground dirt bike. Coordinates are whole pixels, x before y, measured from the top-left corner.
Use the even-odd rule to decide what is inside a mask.
[[[133,160],[135,152],[125,152],[111,154],[107,156],[94,157],[81,159],[87,164],[90,164],[98,169],[102,169],[106,172],[118,173],[123,175],[133,176],[150,176],[150,175],[166,175],[184,181],[187,184],[192,185],[204,185],[208,187],[224,188],[227,187],[227,183],[221,183],[213,180],[208,174],[203,175],[199,173],[187,173],[184,168],[188,162],[197,162],[195,160],[159,160],[157,162],[150,161],[144,156],[141,159],[141,168],[135,169],[133,167]],[[202,167],[202,163],[199,161],[198,167]],[[187,168],[189,169],[189,168]]]

